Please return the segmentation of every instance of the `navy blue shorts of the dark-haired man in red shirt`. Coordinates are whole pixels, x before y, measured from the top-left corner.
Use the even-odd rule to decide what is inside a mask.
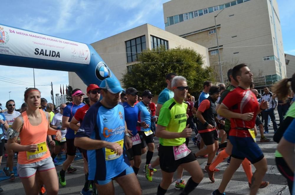
[[[230,143],[232,144],[232,157],[244,160],[247,158],[252,164],[263,159],[264,155],[254,142],[252,137],[236,137],[230,136]]]

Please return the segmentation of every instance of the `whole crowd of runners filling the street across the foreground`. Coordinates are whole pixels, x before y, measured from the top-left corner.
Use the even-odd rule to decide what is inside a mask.
[[[219,172],[217,165],[224,160],[229,164],[212,195],[225,194],[227,184],[241,164],[250,194],[254,195],[269,184],[263,181],[267,161],[255,136],[258,128],[260,142],[270,141],[264,136],[268,133],[270,116],[275,130],[273,140],[279,143],[276,164],[292,194],[295,104],[291,102],[282,120],[280,116],[279,128],[273,110],[277,99],[283,106],[291,91],[295,91],[295,74],[273,85],[272,92],[265,87],[263,95],[254,89],[253,74],[247,65],[236,65],[227,76],[227,86],[214,86],[205,81],[203,91],[194,101],[188,93],[186,78],[169,73],[165,78],[167,87],[158,96],[157,105],[152,102],[154,95],[150,90],[142,93],[134,87],[123,90],[113,78],[104,79],[99,86],[87,87],[89,103],[83,103],[85,94],[75,89],[71,94],[73,101],[57,109],[41,98],[37,88],[28,88],[20,112],[15,110],[14,100],[8,100],[7,111],[0,113],[0,163],[2,156],[7,157],[3,171],[9,179],[15,179],[13,158],[16,154],[17,173],[26,194],[58,194],[59,184],[67,185],[65,172],[77,170],[71,163],[78,149],[84,161],[82,195],[115,194],[113,180],[125,194],[142,194],[137,179],[139,170],[145,172],[148,181],[153,181],[158,166],[162,180],[157,195],[166,193],[175,171],[175,188],[186,195],[194,191],[204,177],[197,158],[207,158],[204,171],[212,183],[214,173]],[[196,153],[188,148],[193,133],[196,135],[192,141],[199,148]],[[152,162],[155,137],[160,144],[156,148],[158,158]],[[66,158],[57,171],[55,162],[62,150]],[[145,166],[140,167],[142,155],[146,155],[146,161]],[[254,173],[251,164],[256,168]],[[191,176],[187,182],[183,180],[183,169]]]

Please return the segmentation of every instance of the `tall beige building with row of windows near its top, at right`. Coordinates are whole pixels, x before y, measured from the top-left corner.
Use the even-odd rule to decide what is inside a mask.
[[[224,78],[237,63],[250,65],[256,86],[286,77],[276,0],[171,0],[163,9],[165,30],[209,48],[218,72],[217,30]]]

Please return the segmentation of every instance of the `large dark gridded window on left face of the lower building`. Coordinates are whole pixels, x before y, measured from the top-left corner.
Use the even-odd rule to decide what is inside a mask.
[[[127,63],[137,61],[137,54],[146,49],[145,35],[125,41]]]

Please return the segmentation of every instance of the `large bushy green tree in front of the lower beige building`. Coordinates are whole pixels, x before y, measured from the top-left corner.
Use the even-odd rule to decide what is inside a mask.
[[[202,90],[205,80],[213,80],[212,68],[203,68],[204,57],[191,48],[179,46],[166,50],[165,46],[160,46],[137,54],[137,58],[139,63],[122,74],[124,88],[148,89],[153,94],[159,94],[167,86],[165,76],[170,72],[184,76],[190,92]]]

